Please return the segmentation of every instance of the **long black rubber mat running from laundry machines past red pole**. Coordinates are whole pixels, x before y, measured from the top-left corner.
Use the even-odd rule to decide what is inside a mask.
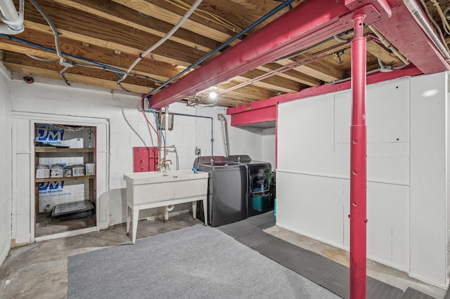
[[[269,212],[217,229],[336,295],[349,298],[349,268],[262,231],[274,225],[275,216]],[[403,293],[400,288],[372,277],[367,277],[366,291],[369,299],[432,298],[413,288],[407,288]]]

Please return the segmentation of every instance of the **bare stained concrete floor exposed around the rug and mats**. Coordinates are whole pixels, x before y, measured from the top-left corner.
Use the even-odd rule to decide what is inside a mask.
[[[138,225],[137,239],[179,230],[198,223],[200,221],[194,220],[189,214],[171,217],[169,222],[141,220]],[[125,230],[124,224],[115,225],[100,232],[13,248],[0,266],[0,298],[67,298],[68,256],[125,243],[130,240]],[[348,266],[347,252],[339,248],[281,227],[270,227],[265,232]],[[437,299],[444,298],[445,290],[411,279],[404,272],[370,260],[367,265],[367,272],[371,277],[402,289],[411,286]]]

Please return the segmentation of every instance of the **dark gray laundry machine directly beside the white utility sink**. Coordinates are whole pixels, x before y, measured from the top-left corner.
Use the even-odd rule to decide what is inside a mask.
[[[229,164],[222,156],[205,156],[196,158],[193,167],[210,173],[209,225],[217,227],[247,218],[247,169],[243,164]],[[200,208],[199,212],[201,219],[205,211]]]

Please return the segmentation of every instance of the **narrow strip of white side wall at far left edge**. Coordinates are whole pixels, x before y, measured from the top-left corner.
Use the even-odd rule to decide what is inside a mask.
[[[11,248],[11,86],[0,65],[0,264]]]

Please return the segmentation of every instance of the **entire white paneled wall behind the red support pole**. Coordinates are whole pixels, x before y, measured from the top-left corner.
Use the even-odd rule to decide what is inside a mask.
[[[278,107],[277,225],[345,249],[350,97]],[[445,288],[446,74],[373,84],[366,106],[368,258]]]

